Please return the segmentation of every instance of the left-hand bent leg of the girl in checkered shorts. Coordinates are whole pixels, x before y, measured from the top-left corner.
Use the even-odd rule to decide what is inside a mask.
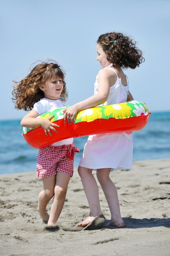
[[[42,220],[49,220],[49,214],[46,212],[46,206],[54,195],[55,175],[42,178],[44,189],[38,197],[38,211]]]

